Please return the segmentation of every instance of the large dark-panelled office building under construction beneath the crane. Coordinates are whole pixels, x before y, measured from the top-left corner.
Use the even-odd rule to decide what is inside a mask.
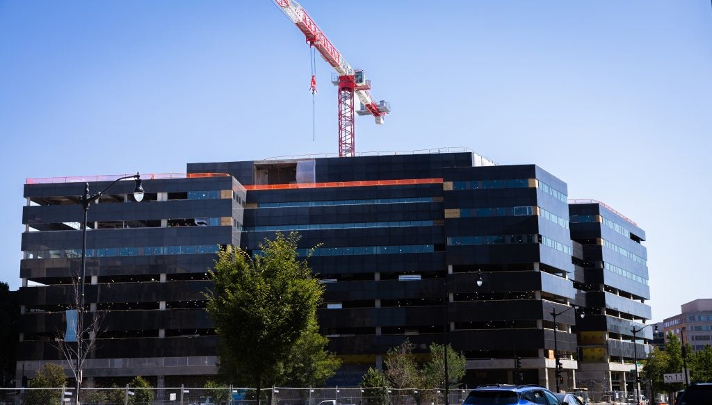
[[[135,375],[158,387],[190,385],[215,374],[206,269],[219,246],[254,251],[276,231],[298,231],[303,249],[319,245],[309,264],[326,286],[320,327],[343,359],[333,384],[357,384],[406,339],[426,352],[447,336],[468,359],[466,384],[556,380],[570,389],[585,385],[577,370],[588,359],[630,369],[630,350],[613,349],[632,347],[625,330],[650,317],[642,231],[594,213],[597,202],[570,204],[567,184],[534,164],[435,150],[192,163],[187,174],[142,178],[143,201],[119,182],[88,211],[85,310],[88,320],[102,315],[103,329],[84,375],[98,385]],[[80,263],[78,196],[85,181],[102,189],[108,180],[28,179],[24,187],[17,381],[63,359],[55,340]],[[575,242],[570,214],[588,223]],[[632,230],[630,243],[610,236],[616,226]],[[574,329],[581,312],[594,322],[583,357]],[[609,347],[600,357],[589,332]],[[650,338],[638,335],[639,357]],[[608,389],[626,381],[632,389],[610,369]]]

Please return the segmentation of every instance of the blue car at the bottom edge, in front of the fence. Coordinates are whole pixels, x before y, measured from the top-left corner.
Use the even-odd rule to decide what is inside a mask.
[[[463,405],[561,405],[553,392],[539,385],[481,385],[470,391]]]

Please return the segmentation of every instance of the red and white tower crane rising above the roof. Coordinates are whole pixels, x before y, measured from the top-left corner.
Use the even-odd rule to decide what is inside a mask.
[[[382,124],[383,116],[391,112],[390,104],[383,100],[378,103],[372,100],[368,91],[371,89],[371,80],[366,80],[363,70],[351,68],[302,6],[293,0],[274,1],[288,19],[304,33],[309,46],[318,50],[322,58],[336,70],[337,78],[333,78],[332,83],[338,88],[339,157],[353,156],[355,152],[354,93],[361,102],[361,108],[356,113],[373,115],[377,124]],[[312,91],[315,91],[314,76],[311,84]]]

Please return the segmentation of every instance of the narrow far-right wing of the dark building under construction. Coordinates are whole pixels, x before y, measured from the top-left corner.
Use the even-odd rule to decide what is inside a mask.
[[[600,201],[571,203],[573,279],[577,302],[585,307],[585,318],[576,323],[577,384],[590,391],[632,391],[634,359],[647,356],[654,332],[654,325],[646,324],[651,312],[645,303],[650,298],[645,232]],[[634,328],[640,330],[635,339]]]

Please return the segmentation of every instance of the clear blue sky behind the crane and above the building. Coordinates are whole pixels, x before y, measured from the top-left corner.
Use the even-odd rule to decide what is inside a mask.
[[[357,151],[534,163],[647,232],[654,320],[712,298],[712,6],[303,0],[392,115]],[[185,172],[336,152],[336,95],[268,0],[0,0],[0,280],[19,286],[26,177]],[[77,194],[81,186],[78,184]]]

